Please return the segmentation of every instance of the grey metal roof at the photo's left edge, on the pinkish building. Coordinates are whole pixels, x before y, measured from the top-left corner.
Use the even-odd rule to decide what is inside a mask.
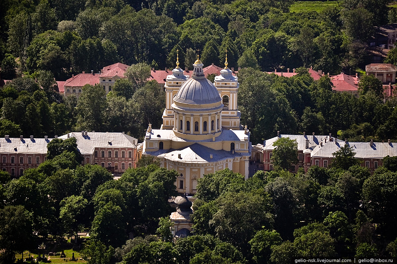
[[[47,154],[47,144],[52,139],[44,138],[0,138],[0,153]]]

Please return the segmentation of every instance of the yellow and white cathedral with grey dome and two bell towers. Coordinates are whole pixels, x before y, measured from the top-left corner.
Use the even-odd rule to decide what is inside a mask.
[[[180,193],[196,193],[203,175],[230,169],[248,178],[251,156],[250,132],[240,124],[237,109],[237,77],[227,67],[214,83],[203,74],[198,59],[192,76],[177,67],[166,78],[163,124],[149,124],[142,155],[156,156],[162,167],[178,172]]]

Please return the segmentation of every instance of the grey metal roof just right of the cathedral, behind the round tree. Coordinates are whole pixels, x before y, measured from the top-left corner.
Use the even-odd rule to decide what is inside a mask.
[[[274,138],[270,138],[264,141],[264,150],[273,150],[274,146],[273,143],[279,139],[279,138],[289,138],[292,140],[296,140],[296,142],[298,142],[298,150],[302,150],[303,152],[307,153],[307,152],[311,152],[314,150],[314,148],[316,148],[320,142],[323,141],[323,143],[325,142],[325,140],[327,139],[327,141],[330,140],[330,136],[324,136],[324,135],[280,135],[280,137],[274,137]],[[309,148],[306,149],[306,140],[309,140]],[[334,137],[332,137],[333,141],[338,141],[338,142],[342,142],[339,139],[336,139]]]

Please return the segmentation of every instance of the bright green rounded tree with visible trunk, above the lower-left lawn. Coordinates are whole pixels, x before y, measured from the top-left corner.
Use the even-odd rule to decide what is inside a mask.
[[[88,202],[82,196],[71,195],[60,202],[61,210],[59,218],[68,234],[74,233],[74,242],[77,243],[78,228],[85,221],[85,210]]]

